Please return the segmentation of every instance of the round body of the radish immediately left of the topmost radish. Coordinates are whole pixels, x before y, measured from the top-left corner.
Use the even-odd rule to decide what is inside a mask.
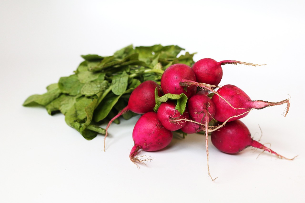
[[[161,77],[161,89],[164,94],[184,93],[188,98],[196,94],[197,87],[180,86],[181,80],[192,80],[196,82],[196,76],[192,68],[185,64],[174,64],[168,67]]]

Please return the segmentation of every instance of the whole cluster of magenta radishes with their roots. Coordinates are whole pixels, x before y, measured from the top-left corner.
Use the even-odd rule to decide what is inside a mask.
[[[141,159],[137,156],[138,152],[141,149],[157,151],[165,148],[173,138],[173,131],[179,130],[185,134],[204,131],[207,168],[212,180],[216,178],[210,175],[209,169],[209,134],[213,145],[225,153],[235,154],[252,146],[273,153],[279,158],[285,158],[254,141],[248,128],[239,119],[248,115],[252,109],[263,109],[281,104],[287,105],[286,116],[289,110],[289,99],[280,102],[253,101],[234,85],[218,86],[222,78],[221,65],[224,64],[261,66],[230,60],[216,62],[213,59],[201,59],[192,67],[179,63],[171,65],[165,69],[160,86],[153,81],[146,81],[131,93],[128,106],[106,127],[106,136],[112,121],[127,110],[143,114],[135,124],[132,133],[135,144],[129,155],[132,162],[143,163],[148,159]],[[168,99],[161,102],[159,99],[157,102],[157,98],[163,98],[166,95],[170,95],[167,96]],[[187,100],[185,106],[181,106],[173,95],[177,98],[184,97]],[[209,126],[212,120],[215,124]]]

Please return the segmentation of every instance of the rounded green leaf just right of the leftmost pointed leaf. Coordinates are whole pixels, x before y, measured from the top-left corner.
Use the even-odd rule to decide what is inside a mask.
[[[60,91],[72,96],[80,94],[83,86],[84,84],[78,80],[76,74],[70,75],[69,77],[61,77],[58,82]]]

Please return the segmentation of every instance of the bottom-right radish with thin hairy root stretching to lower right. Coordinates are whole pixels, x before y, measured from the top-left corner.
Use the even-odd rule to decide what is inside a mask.
[[[253,140],[249,129],[240,120],[228,122],[221,129],[213,131],[211,134],[211,141],[218,150],[228,154],[236,154],[245,148],[252,146],[275,154],[279,158],[285,158],[263,144],[260,144],[258,141]],[[285,159],[293,160],[294,158]]]

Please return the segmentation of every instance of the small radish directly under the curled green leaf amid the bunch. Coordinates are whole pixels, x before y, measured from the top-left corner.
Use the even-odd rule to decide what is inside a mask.
[[[171,131],[179,130],[185,126],[186,122],[176,121],[177,119],[187,119],[189,118],[188,110],[181,115],[180,112],[175,109],[176,104],[174,101],[163,102],[157,112],[158,119],[161,121],[162,125]]]

